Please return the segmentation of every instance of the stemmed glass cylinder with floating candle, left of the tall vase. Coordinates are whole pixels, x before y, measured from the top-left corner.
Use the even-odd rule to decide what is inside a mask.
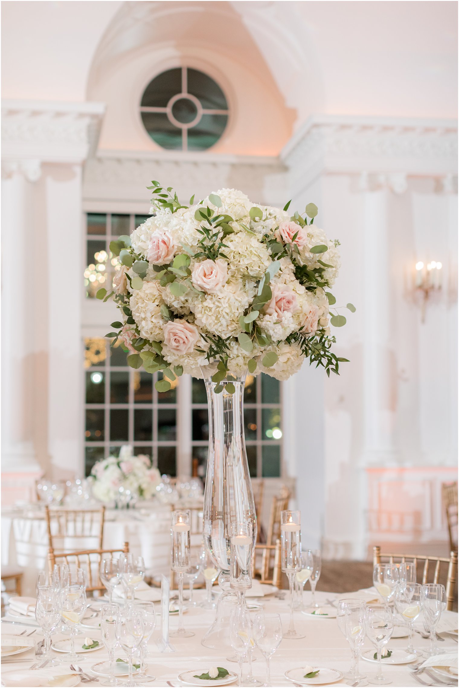
[[[170,561],[172,571],[179,576],[179,627],[170,636],[190,638],[191,631],[183,627],[183,573],[190,568],[191,511],[172,511],[170,516]]]

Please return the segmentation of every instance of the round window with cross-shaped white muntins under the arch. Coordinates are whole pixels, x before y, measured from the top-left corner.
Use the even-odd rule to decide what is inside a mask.
[[[228,105],[210,76],[190,67],[176,67],[150,81],[140,113],[148,135],[161,148],[205,151],[225,131]]]

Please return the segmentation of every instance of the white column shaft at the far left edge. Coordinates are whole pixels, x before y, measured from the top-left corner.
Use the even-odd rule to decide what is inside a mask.
[[[1,471],[6,498],[41,474],[34,447],[34,284],[32,182],[18,169],[2,179]],[[23,496],[24,495],[24,496]]]

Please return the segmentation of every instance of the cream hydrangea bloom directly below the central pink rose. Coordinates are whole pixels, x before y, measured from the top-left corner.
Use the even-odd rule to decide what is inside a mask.
[[[206,294],[202,301],[194,304],[195,324],[223,338],[237,335],[240,332],[239,316],[252,299],[241,281],[228,281],[218,294]]]

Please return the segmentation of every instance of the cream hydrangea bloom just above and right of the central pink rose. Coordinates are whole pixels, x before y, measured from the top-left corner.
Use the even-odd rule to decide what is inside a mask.
[[[229,275],[249,275],[260,279],[272,263],[265,244],[261,244],[256,236],[246,231],[228,235],[225,237],[225,244]]]

